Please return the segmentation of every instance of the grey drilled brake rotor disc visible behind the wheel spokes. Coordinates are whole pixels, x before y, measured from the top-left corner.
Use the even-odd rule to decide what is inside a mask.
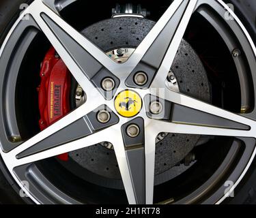
[[[136,48],[154,24],[155,22],[143,18],[111,18],[91,25],[82,33],[99,48],[110,52],[118,48]],[[175,75],[180,92],[210,102],[210,84],[205,69],[185,40],[180,44],[171,72]],[[158,140],[155,168],[157,184],[170,178],[168,170],[190,153],[199,138],[198,135],[167,134]],[[109,186],[111,179],[114,179],[113,183],[121,181],[115,151],[112,149],[96,144],[73,151],[69,155],[79,167],[90,172],[90,176],[83,176],[88,181],[95,183],[97,176],[100,176],[98,183],[103,186]]]

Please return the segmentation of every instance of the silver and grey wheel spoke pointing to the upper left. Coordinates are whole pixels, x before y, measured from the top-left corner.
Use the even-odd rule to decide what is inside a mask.
[[[89,80],[96,74],[111,74],[116,63],[44,5],[42,0],[34,1],[29,13],[85,91],[94,88]]]

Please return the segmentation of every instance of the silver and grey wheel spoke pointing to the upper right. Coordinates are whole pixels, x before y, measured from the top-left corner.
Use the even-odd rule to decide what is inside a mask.
[[[136,65],[126,80],[128,86],[135,86],[132,78],[136,72],[141,71],[147,72],[148,77],[144,88],[150,86],[154,77],[154,83],[161,81],[162,86],[165,84],[165,78],[167,78],[196,3],[197,0],[175,0],[171,3],[165,14],[128,60],[128,64],[135,63]]]

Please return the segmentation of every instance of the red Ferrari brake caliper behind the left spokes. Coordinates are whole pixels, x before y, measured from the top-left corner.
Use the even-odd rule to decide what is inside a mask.
[[[70,72],[54,48],[46,53],[40,70],[41,84],[38,88],[40,129],[44,130],[70,112]],[[68,153],[58,155],[68,161]]]

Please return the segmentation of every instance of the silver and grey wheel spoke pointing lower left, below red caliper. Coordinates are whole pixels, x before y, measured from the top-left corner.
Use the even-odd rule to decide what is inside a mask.
[[[94,105],[96,105],[94,102],[91,102],[90,106],[87,103],[83,104],[6,155],[13,160],[12,164],[20,165],[74,151],[76,147],[82,148],[83,145],[92,145],[94,140],[96,143],[104,141],[105,131],[101,133],[100,130],[109,129],[108,127],[117,124],[119,119],[106,106],[93,108]],[[100,123],[96,119],[98,111],[102,109],[110,113],[110,120],[107,123]],[[111,134],[110,130],[108,133]],[[96,136],[102,137],[96,138]]]

